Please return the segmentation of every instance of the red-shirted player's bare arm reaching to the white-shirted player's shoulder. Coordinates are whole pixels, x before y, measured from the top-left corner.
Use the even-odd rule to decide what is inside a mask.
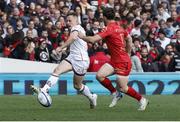
[[[95,43],[97,41],[102,40],[102,38],[98,34],[96,34],[94,36],[85,36],[83,33],[79,32],[78,36],[82,40],[84,40],[86,42],[90,42],[90,43]]]

